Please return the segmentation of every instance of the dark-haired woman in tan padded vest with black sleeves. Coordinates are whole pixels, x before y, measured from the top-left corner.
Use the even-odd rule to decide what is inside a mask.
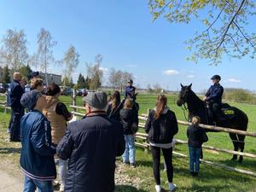
[[[64,137],[67,121],[72,119],[72,114],[68,112],[66,105],[59,101],[61,89],[58,84],[50,84],[46,90],[47,105],[44,109],[44,115],[49,120],[51,125],[52,143],[57,145],[61,138]],[[64,191],[65,179],[67,172],[67,160],[59,160],[60,174],[60,191]]]

